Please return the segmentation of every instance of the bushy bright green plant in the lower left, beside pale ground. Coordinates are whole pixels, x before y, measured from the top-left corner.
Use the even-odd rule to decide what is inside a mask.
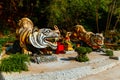
[[[29,62],[28,55],[25,54],[13,54],[8,58],[4,58],[0,63],[0,71],[3,72],[21,72],[27,71],[28,66],[26,63]]]

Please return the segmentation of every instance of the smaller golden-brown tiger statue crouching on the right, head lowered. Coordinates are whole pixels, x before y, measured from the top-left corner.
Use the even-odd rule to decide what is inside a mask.
[[[100,49],[104,45],[102,33],[87,32],[82,25],[75,26],[71,40],[83,41],[93,49]]]

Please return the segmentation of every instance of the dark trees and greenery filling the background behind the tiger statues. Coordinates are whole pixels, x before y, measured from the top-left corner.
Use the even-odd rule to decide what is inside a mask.
[[[0,0],[0,30],[14,31],[20,18],[29,17],[39,28],[76,24],[93,32],[120,29],[120,0]]]

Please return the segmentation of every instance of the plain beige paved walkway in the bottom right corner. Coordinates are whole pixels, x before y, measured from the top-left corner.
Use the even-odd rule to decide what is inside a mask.
[[[103,72],[79,78],[77,80],[120,80],[120,64]]]

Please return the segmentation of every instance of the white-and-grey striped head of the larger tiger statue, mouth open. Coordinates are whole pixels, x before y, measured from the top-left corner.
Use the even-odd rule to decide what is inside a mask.
[[[55,30],[49,28],[39,29],[37,32],[33,32],[29,36],[30,43],[36,48],[51,47],[52,49],[57,48],[56,41],[59,38],[59,34]]]

